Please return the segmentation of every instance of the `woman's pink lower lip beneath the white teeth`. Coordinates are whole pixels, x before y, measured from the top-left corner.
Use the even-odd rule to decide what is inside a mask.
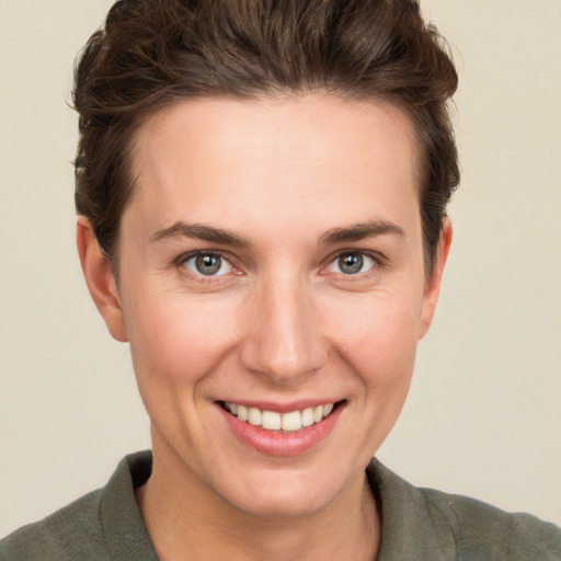
[[[344,409],[344,404],[340,403],[329,416],[319,423],[299,431],[280,433],[244,423],[220,405],[217,407],[239,439],[259,453],[270,456],[297,456],[312,449],[329,436]]]

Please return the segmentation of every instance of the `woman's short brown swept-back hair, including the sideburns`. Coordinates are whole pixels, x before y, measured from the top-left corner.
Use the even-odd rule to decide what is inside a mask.
[[[430,271],[459,182],[447,111],[457,80],[413,0],[121,0],[76,67],[77,210],[115,257],[134,131],[179,100],[311,91],[386,100],[415,125]]]

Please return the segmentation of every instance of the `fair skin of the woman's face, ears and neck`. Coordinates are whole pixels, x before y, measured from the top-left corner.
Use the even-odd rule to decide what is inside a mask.
[[[373,560],[364,469],[451,240],[445,222],[426,275],[409,118],[320,94],[202,99],[150,117],[134,154],[118,285],[83,217],[78,247],[150,415],[137,496],[160,559]]]

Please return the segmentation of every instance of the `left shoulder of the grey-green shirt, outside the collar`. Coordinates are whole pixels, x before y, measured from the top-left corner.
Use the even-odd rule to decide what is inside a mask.
[[[0,541],[0,559],[48,561],[110,559],[100,523],[102,491],[93,491]]]

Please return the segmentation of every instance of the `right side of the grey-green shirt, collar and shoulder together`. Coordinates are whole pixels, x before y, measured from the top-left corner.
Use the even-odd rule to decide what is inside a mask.
[[[381,505],[380,559],[560,561],[561,529],[467,496],[411,485],[377,460],[367,469]]]

